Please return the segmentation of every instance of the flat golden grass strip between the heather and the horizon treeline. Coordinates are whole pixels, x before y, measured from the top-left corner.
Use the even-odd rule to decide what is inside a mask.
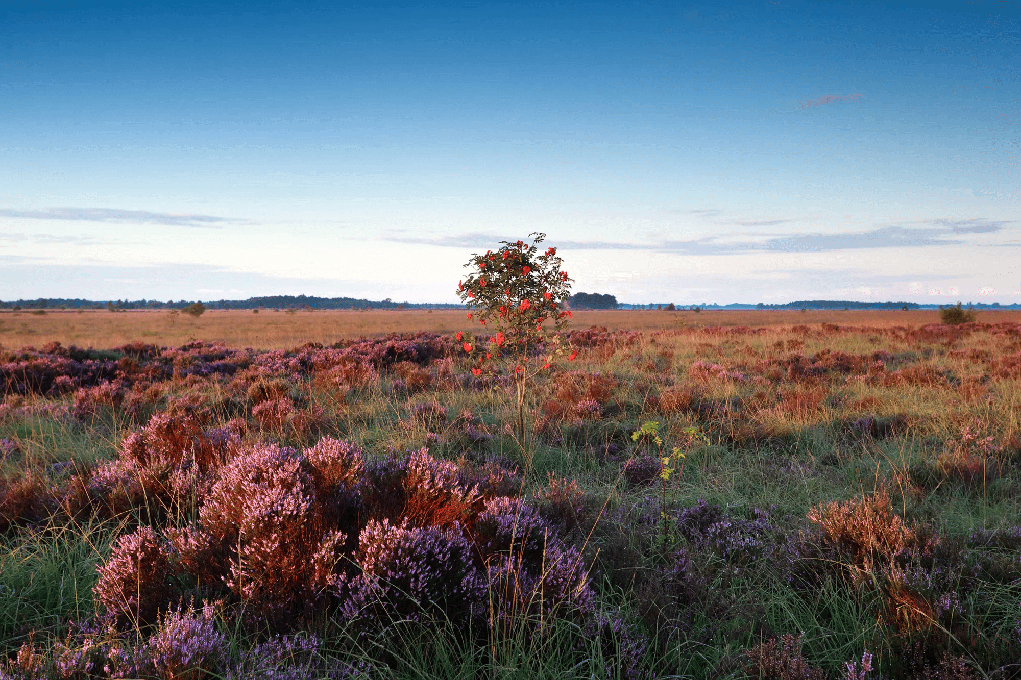
[[[985,323],[1021,322],[1021,311],[981,311]],[[704,326],[780,327],[798,324],[840,326],[922,326],[939,323],[939,313],[925,310],[615,310],[577,311],[575,328],[604,326],[610,330],[655,331]],[[342,339],[379,337],[388,333],[477,330],[457,309],[394,309],[371,311],[324,309],[274,311],[210,309],[199,318],[166,310],[0,311],[0,347],[41,347],[57,341],[64,346],[110,348],[142,340],[178,346],[190,340],[218,341],[233,347],[279,349],[305,342],[329,344]]]

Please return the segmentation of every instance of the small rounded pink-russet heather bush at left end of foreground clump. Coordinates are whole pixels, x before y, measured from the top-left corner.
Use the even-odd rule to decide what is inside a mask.
[[[174,596],[171,561],[150,527],[117,539],[93,588],[96,602],[118,624],[152,623]]]

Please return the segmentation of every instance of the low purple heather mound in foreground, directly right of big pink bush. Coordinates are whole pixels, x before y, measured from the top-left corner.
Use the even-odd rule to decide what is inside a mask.
[[[467,622],[486,591],[472,552],[456,523],[445,529],[370,520],[358,536],[361,574],[344,612],[383,625],[436,616]]]

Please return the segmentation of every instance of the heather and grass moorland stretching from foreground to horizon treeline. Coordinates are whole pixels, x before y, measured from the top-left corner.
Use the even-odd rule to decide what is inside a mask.
[[[2,312],[0,678],[1021,678],[1019,322]]]

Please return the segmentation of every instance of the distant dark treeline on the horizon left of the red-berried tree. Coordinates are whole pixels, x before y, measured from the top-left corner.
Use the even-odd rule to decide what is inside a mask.
[[[37,298],[34,300],[5,300],[0,301],[0,308],[10,309],[21,307],[22,309],[183,309],[195,302],[202,302],[206,309],[251,309],[255,307],[269,307],[287,309],[292,307],[312,309],[364,309],[373,307],[376,309],[438,309],[438,308],[460,308],[460,304],[447,303],[417,303],[417,302],[394,302],[390,298],[385,300],[367,300],[355,297],[315,297],[314,295],[266,295],[262,297],[250,297],[247,300],[84,300],[82,298],[49,297]]]

